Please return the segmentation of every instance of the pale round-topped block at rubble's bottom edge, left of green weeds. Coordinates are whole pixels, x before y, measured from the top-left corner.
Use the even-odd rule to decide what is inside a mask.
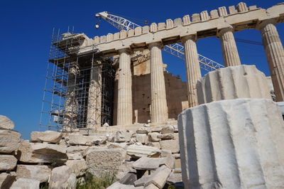
[[[49,188],[76,188],[76,175],[68,166],[53,168],[51,172]]]

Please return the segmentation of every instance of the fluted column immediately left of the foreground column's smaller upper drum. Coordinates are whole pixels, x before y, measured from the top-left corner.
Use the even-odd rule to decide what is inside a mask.
[[[185,46],[188,104],[189,107],[195,107],[198,105],[196,84],[197,80],[202,77],[196,48],[196,36],[185,36],[182,38],[182,43]]]

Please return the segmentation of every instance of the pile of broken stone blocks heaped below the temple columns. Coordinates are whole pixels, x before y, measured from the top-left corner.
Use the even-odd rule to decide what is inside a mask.
[[[138,173],[133,187],[160,188],[173,175],[180,175],[175,172],[181,169],[174,166],[180,160],[177,125],[145,124],[136,131],[114,129],[100,134],[87,129],[33,131],[31,141],[20,139],[13,128],[13,121],[0,116],[0,188],[76,188],[87,172],[98,177],[113,173],[120,179],[115,185]]]

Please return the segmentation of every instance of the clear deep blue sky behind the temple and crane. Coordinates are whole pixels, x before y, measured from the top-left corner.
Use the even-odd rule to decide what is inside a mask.
[[[268,8],[281,1],[246,1],[248,6]],[[39,130],[41,101],[45,72],[53,27],[67,31],[74,26],[78,33],[87,36],[102,36],[117,32],[109,23],[97,22],[94,14],[109,11],[120,15],[141,18],[151,22],[164,22],[168,18],[182,18],[186,14],[200,13],[231,6],[239,1],[72,1],[3,0],[0,6],[0,114],[11,118],[23,139],[29,139],[31,131]],[[283,41],[284,25],[278,24],[278,32]],[[259,31],[241,31],[237,38],[261,41]],[[262,46],[237,43],[241,62],[256,64],[257,68],[269,75],[266,56]],[[223,63],[219,39],[206,38],[198,41],[198,52]],[[163,53],[163,62],[169,72],[181,75],[185,80],[185,65],[182,60]]]

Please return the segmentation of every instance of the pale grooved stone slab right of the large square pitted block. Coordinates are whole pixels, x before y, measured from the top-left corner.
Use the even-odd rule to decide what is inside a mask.
[[[127,148],[126,153],[132,158],[141,158],[143,156],[155,157],[160,155],[160,150],[151,146],[138,146],[133,144]]]

